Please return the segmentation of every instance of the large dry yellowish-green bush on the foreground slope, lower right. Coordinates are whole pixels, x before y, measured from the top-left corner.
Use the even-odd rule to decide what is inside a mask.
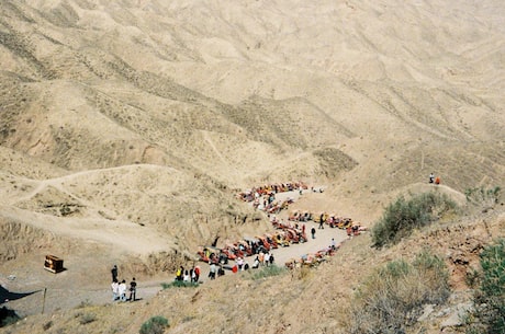
[[[442,260],[428,252],[412,263],[393,261],[362,283],[349,308],[349,333],[406,333],[426,303],[444,302],[450,293]]]

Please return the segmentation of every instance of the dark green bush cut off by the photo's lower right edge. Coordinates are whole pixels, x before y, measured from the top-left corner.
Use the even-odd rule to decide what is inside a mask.
[[[481,253],[481,281],[467,333],[505,333],[505,239]]]

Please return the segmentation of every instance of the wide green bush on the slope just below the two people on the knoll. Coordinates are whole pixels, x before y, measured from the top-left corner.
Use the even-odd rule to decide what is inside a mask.
[[[397,243],[414,229],[427,226],[456,209],[456,203],[445,194],[425,193],[409,200],[400,196],[385,208],[381,219],[373,226],[372,245],[382,247]]]

